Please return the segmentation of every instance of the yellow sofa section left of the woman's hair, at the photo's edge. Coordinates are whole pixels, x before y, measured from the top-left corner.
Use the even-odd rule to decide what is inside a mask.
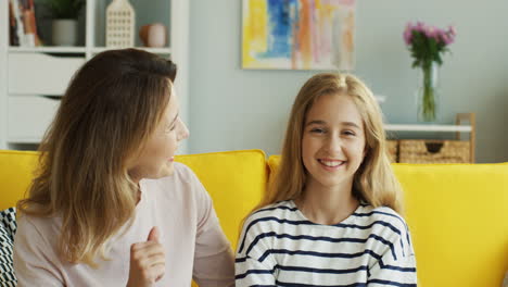
[[[38,154],[35,151],[0,150],[0,210],[15,207],[24,198]]]

